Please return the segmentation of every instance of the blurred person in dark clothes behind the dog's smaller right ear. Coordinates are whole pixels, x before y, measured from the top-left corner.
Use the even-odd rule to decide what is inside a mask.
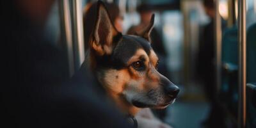
[[[152,5],[141,4],[140,6],[138,6],[137,10],[140,13],[140,24],[136,26],[131,26],[131,28],[129,28],[127,31],[128,35],[140,35],[141,30],[146,28],[150,23],[150,17],[153,14]],[[152,48],[154,49],[154,51],[156,51],[157,56],[159,56],[158,71],[164,76],[170,78],[170,73],[168,72],[168,68],[166,65],[167,52],[166,49],[164,49],[162,36],[159,35],[157,29],[153,28],[150,38],[152,42]],[[161,118],[161,120],[163,120],[166,116],[166,109],[154,110],[154,112],[157,116],[159,116],[159,118]]]

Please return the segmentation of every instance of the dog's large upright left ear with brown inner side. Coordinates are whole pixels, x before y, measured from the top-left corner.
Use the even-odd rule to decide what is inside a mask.
[[[115,37],[118,35],[122,34],[113,26],[104,3],[98,1],[97,19],[89,41],[90,48],[99,56],[111,54],[113,50],[113,40],[115,40]]]

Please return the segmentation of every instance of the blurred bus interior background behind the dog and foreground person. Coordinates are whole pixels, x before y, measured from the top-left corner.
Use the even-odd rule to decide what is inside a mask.
[[[54,1],[44,36],[65,52],[65,76],[84,61],[86,11],[93,0]],[[239,118],[237,0],[105,0],[118,31],[134,34],[156,14],[152,45],[159,72],[180,88],[179,98],[155,111],[175,128],[236,127]],[[115,4],[115,5],[111,5]],[[113,9],[117,8],[117,9]],[[113,9],[113,10],[111,10]],[[115,14],[115,13],[116,14]],[[246,127],[256,127],[256,1],[246,0]],[[89,17],[90,18],[90,17]],[[85,40],[85,41],[84,41]]]

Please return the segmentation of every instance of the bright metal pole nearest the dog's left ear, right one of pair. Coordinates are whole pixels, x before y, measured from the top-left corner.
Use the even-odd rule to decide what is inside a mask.
[[[84,61],[84,31],[82,2],[82,0],[71,1],[75,70],[78,70]]]

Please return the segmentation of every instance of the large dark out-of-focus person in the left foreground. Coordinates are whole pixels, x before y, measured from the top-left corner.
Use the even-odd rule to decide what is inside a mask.
[[[131,127],[86,69],[66,82],[65,56],[43,34],[53,2],[1,1],[1,127]]]

